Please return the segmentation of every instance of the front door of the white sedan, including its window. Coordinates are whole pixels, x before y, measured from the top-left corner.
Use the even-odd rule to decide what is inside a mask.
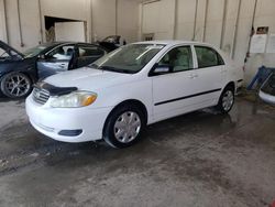
[[[193,59],[190,46],[178,46],[167,52],[151,73],[155,121],[193,110],[196,100]]]

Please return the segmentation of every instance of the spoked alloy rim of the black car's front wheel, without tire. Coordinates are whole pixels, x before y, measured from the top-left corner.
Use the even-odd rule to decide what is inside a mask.
[[[8,92],[15,97],[21,97],[30,90],[30,80],[23,75],[13,75],[6,79],[6,88]]]

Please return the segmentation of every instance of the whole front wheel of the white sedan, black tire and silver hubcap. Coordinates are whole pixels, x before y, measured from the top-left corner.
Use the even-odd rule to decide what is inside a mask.
[[[108,117],[103,139],[112,148],[127,148],[141,139],[145,128],[145,116],[136,106],[123,105]]]

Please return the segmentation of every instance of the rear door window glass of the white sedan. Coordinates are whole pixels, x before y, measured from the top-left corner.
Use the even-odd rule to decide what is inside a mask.
[[[206,46],[195,46],[195,50],[199,68],[224,65],[222,57],[213,48]]]

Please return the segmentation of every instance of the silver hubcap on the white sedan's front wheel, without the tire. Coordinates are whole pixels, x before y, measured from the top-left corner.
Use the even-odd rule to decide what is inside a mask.
[[[129,143],[133,141],[141,131],[141,119],[136,112],[127,111],[122,113],[114,123],[114,137],[119,142]]]

